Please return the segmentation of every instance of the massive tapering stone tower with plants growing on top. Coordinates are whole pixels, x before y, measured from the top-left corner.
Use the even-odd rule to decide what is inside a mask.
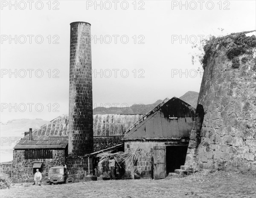
[[[256,37],[207,44],[186,165],[256,169]]]

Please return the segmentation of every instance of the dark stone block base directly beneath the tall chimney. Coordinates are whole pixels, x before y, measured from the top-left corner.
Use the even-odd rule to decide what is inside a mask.
[[[70,176],[75,178],[75,181],[84,180],[86,175],[93,175],[93,161],[89,159],[90,173],[88,173],[88,158],[87,157],[66,157],[67,169]]]

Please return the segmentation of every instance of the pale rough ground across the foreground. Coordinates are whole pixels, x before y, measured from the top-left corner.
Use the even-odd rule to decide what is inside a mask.
[[[256,177],[239,172],[198,172],[161,180],[111,180],[32,186],[12,184],[1,198],[255,198]]]

